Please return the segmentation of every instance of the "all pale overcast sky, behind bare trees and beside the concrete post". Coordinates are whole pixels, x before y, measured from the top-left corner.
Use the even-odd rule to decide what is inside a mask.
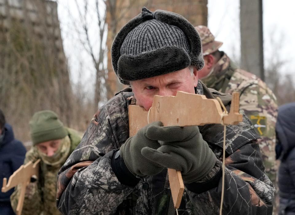
[[[239,0],[208,0],[208,26],[216,40],[223,42],[220,50],[226,51],[233,59],[239,59],[240,57],[239,2]],[[61,34],[65,54],[69,59],[71,78],[74,83],[77,83],[81,77],[82,82],[86,82],[90,90],[94,83],[92,77],[95,70],[90,57],[77,42],[77,35],[73,30],[73,23],[68,15],[67,8],[69,8],[73,17],[77,17],[78,13],[73,0],[58,1]],[[283,72],[293,74],[295,73],[293,69],[295,61],[295,52],[293,51],[295,28],[292,27],[295,20],[294,8],[295,1],[293,0],[263,1],[265,66],[267,66],[267,59],[270,58],[270,55],[279,54],[281,59],[288,61],[283,68]],[[95,37],[95,32],[92,35]],[[281,50],[273,48],[271,39],[280,45]],[[92,38],[92,40],[95,43],[95,39]],[[81,76],[79,76],[79,71],[82,74]]]

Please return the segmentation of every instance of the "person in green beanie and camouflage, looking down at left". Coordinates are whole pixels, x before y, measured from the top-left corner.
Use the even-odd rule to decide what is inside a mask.
[[[38,178],[27,186],[22,214],[61,214],[56,208],[57,172],[82,139],[81,133],[67,128],[51,110],[35,113],[29,121],[33,147],[26,153],[24,164],[41,158]],[[16,212],[20,188],[11,195]]]

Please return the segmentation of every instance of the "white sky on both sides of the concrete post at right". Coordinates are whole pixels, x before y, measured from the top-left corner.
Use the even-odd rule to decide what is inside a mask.
[[[246,1],[246,0],[245,0]],[[295,1],[264,0],[263,1],[263,39],[265,66],[271,54],[279,54],[287,61],[282,72],[293,73],[295,78]],[[223,45],[220,50],[237,59],[240,57],[240,1],[208,0],[208,27]],[[271,40],[274,40],[272,44]],[[281,50],[276,50],[280,45]]]

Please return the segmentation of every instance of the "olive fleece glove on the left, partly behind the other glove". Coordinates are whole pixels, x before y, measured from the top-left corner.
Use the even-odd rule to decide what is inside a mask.
[[[158,149],[161,145],[157,140],[151,140],[156,129],[163,126],[162,122],[157,121],[148,124],[140,129],[135,136],[129,137],[120,148],[120,156],[123,158],[128,170],[135,176],[156,175],[164,169],[158,163],[147,159],[141,154],[144,147]]]

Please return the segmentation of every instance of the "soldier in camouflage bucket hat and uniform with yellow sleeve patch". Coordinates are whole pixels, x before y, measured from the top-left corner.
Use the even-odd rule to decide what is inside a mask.
[[[222,93],[240,93],[240,109],[254,125],[261,136],[258,140],[265,165],[265,172],[273,185],[276,184],[275,124],[277,99],[260,78],[239,69],[230,58],[218,48],[222,42],[215,41],[206,26],[196,26],[202,39],[205,65],[199,71],[199,78],[210,88]]]

